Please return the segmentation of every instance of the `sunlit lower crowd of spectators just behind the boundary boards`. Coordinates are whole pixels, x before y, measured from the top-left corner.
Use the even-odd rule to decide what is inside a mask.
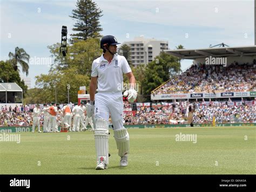
[[[129,108],[127,102],[124,107]],[[137,111],[124,112],[125,125],[147,124],[186,124],[188,109],[192,106],[194,124],[211,124],[213,116],[216,123],[256,122],[256,105],[243,104],[230,106],[227,102],[174,102],[167,106],[137,107]],[[32,126],[32,112],[28,106],[16,106],[14,109],[2,107],[0,126]],[[40,116],[43,125],[43,112]]]

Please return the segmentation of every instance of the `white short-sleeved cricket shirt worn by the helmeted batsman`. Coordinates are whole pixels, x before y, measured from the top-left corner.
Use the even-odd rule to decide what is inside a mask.
[[[92,63],[91,77],[98,76],[98,92],[122,92],[123,73],[131,71],[124,56],[114,56],[109,63],[102,54]]]

